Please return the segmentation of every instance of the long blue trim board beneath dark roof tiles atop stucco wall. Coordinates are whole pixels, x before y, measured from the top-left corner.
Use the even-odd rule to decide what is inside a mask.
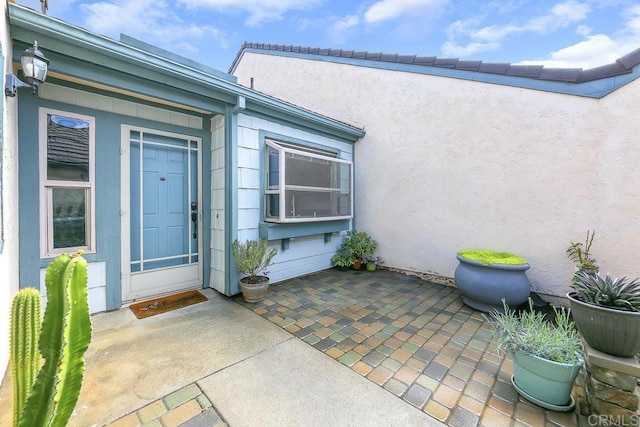
[[[311,61],[333,62],[336,64],[378,68],[389,71],[403,71],[407,73],[425,74],[453,79],[471,80],[482,83],[513,86],[524,89],[541,90],[544,92],[583,96],[596,99],[603,98],[611,92],[614,92],[620,87],[640,77],[640,67],[635,67],[631,73],[621,76],[607,77],[584,83],[568,83],[559,81],[538,80],[526,77],[505,76],[500,74],[479,73],[475,71],[454,70],[439,67],[424,67],[420,65],[402,64],[396,62],[382,62],[370,61],[365,59],[320,56],[299,52],[284,52],[272,50],[265,51],[263,49],[255,49],[249,47],[245,47],[242,54],[244,54],[244,52],[250,52],[259,55],[276,55],[289,58],[300,58]]]

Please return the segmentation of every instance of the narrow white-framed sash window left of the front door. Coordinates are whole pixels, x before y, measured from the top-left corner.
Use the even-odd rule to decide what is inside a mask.
[[[94,118],[40,110],[43,257],[95,252]]]

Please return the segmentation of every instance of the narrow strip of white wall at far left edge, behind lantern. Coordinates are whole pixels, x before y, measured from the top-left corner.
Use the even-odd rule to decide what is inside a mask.
[[[7,23],[7,3],[2,2],[0,43],[5,71],[11,70],[12,56]],[[4,77],[4,73],[2,74]],[[4,82],[4,80],[3,80]],[[4,83],[2,85],[4,87]],[[18,291],[18,145],[17,104],[3,96],[2,102],[2,202],[4,249],[0,253],[0,379],[9,363],[9,313],[11,299]]]

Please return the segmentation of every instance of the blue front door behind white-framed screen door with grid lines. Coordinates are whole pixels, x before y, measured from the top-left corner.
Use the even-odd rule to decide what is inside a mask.
[[[127,131],[130,256],[123,300],[199,288],[200,140]]]

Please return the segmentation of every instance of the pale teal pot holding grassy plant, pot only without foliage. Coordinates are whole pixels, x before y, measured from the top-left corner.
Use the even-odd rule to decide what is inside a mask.
[[[573,382],[583,361],[558,363],[516,350],[513,354],[513,381],[525,399],[553,410],[572,405]],[[557,409],[556,409],[557,408]]]

